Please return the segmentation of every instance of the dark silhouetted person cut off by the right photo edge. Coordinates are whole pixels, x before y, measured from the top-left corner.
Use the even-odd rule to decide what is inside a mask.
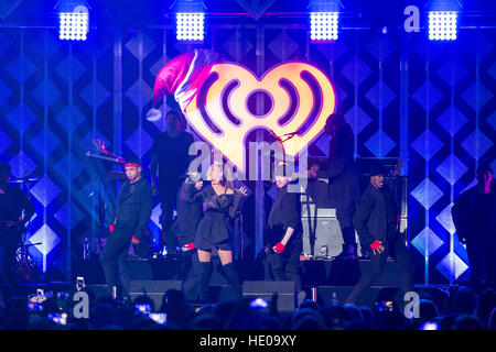
[[[481,164],[475,174],[477,185],[460,195],[451,213],[459,240],[466,245],[468,284],[478,290],[486,282],[496,288],[496,186],[489,165]]]

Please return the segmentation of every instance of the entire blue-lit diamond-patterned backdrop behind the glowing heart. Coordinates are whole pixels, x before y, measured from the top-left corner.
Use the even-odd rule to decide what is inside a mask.
[[[432,44],[422,35],[347,30],[334,44],[312,44],[303,26],[261,29],[213,24],[203,47],[254,72],[260,61],[267,70],[292,59],[323,69],[355,131],[356,156],[406,162],[417,282],[467,275],[450,209],[473,183],[478,161],[496,166],[495,31],[466,30],[454,43]],[[154,77],[166,61],[195,46],[176,43],[171,29],[109,32],[106,41],[83,44],[58,42],[51,30],[2,29],[0,44],[0,158],[10,162],[14,177],[41,176],[31,188],[37,215],[30,241],[43,244],[32,253],[44,271],[65,275],[69,258],[80,255],[82,239],[97,227],[84,155],[91,139],[149,165],[152,141],[165,128],[144,119]],[[163,113],[173,106],[168,97]],[[311,155],[326,155],[327,145],[322,136]],[[157,235],[157,201],[153,208]]]

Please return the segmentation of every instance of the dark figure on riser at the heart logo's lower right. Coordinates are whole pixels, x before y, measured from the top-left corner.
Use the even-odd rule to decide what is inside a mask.
[[[336,218],[343,235],[343,252],[337,260],[356,260],[357,244],[353,228],[353,211],[359,198],[359,177],[355,170],[354,134],[344,116],[327,118],[325,133],[331,135],[328,160],[325,165],[311,165],[311,177],[328,178],[327,197],[336,207]]]

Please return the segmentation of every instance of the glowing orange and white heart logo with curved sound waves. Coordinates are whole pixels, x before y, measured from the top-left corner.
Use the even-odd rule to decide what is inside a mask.
[[[262,116],[249,109],[248,100],[256,92],[271,100]],[[215,64],[184,112],[205,141],[245,170],[245,143],[251,131],[266,129],[279,138],[294,134],[283,145],[287,155],[296,157],[323,132],[334,108],[331,81],[312,65],[280,64],[259,79],[240,65]]]

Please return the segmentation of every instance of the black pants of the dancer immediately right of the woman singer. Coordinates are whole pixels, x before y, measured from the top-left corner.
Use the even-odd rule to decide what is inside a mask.
[[[302,290],[300,275],[300,254],[302,252],[302,241],[291,241],[282,253],[269,252],[268,260],[272,267],[276,280],[293,280],[296,293]]]

